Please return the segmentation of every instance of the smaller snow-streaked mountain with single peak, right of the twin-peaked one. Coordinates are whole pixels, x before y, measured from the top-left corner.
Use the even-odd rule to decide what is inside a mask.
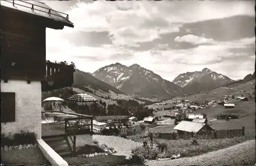
[[[173,83],[183,87],[190,94],[209,91],[233,82],[229,77],[204,68],[202,71],[186,72],[178,75]]]

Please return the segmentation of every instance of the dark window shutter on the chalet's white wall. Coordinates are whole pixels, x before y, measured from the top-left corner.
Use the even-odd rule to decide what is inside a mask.
[[[1,92],[1,122],[15,122],[14,92]]]

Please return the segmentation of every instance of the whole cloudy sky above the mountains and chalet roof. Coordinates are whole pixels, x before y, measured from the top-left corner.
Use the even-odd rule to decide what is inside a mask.
[[[254,1],[44,3],[75,25],[46,30],[50,61],[91,73],[136,63],[170,81],[205,67],[232,79],[254,71]]]

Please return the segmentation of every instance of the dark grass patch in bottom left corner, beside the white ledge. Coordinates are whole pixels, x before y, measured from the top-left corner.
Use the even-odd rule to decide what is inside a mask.
[[[38,147],[23,150],[3,151],[2,164],[50,165]]]

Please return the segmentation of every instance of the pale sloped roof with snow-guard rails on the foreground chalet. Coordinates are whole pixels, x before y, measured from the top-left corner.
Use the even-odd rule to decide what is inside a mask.
[[[42,16],[45,18],[51,18],[55,21],[60,21],[64,23],[66,26],[74,27],[73,23],[69,21],[68,18],[66,18],[67,14],[55,11],[42,2],[14,1],[14,6],[13,6],[13,1],[1,1],[1,6],[5,6],[11,9],[16,9],[16,10],[37,15],[37,16]],[[34,10],[32,10],[32,6]],[[51,14],[48,14],[49,10]]]

